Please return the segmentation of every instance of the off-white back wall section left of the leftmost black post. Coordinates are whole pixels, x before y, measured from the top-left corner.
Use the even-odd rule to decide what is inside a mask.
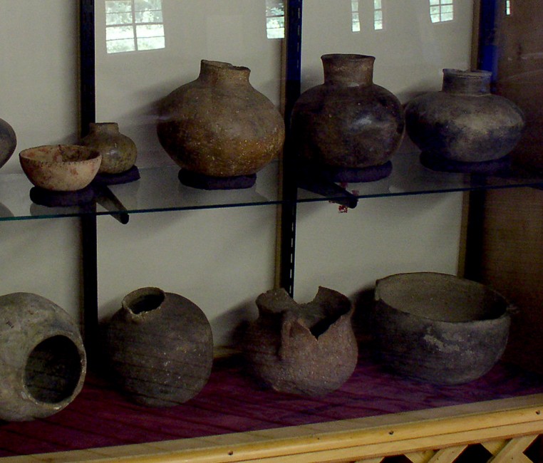
[[[4,186],[22,175],[19,151],[77,139],[78,26],[73,0],[0,0],[0,12],[0,118],[13,126],[18,141],[0,170]],[[0,202],[9,207],[12,193],[0,190]],[[0,294],[38,293],[77,317],[78,220],[0,222],[0,236]]]

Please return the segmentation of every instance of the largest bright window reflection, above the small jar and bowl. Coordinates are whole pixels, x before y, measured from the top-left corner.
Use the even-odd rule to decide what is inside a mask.
[[[165,48],[162,0],[105,0],[108,53]]]

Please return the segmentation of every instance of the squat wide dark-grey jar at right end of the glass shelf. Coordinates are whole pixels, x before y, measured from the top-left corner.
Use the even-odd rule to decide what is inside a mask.
[[[427,155],[487,162],[509,153],[522,135],[517,105],[490,93],[488,71],[443,70],[443,87],[405,107],[408,135]]]

